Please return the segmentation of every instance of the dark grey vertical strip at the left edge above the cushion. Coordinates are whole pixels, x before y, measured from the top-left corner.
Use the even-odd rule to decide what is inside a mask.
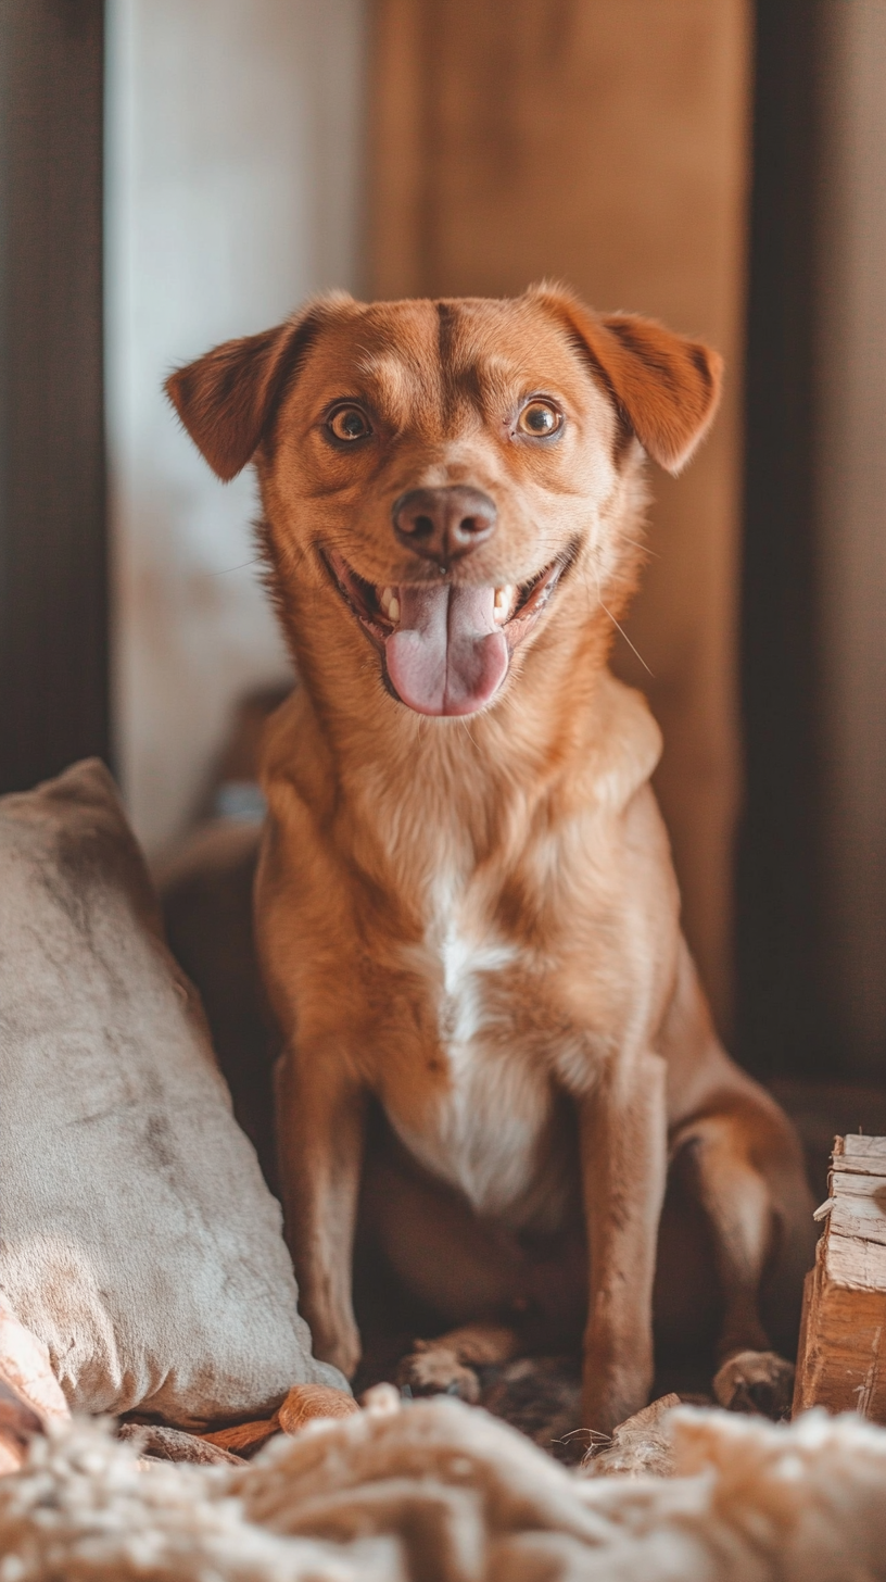
[[[109,751],[101,0],[0,8],[0,793]]]

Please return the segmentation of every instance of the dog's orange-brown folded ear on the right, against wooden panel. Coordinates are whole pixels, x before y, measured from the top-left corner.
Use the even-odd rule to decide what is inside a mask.
[[[554,313],[584,351],[644,451],[679,473],[714,421],[721,356],[649,318],[598,316],[557,286],[533,286],[530,297]]]

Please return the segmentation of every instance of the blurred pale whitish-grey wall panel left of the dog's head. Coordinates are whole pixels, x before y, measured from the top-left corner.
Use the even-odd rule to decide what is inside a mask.
[[[108,426],[117,756],[157,850],[234,698],[286,674],[248,476],[222,486],[160,384],[358,271],[362,0],[109,0]]]

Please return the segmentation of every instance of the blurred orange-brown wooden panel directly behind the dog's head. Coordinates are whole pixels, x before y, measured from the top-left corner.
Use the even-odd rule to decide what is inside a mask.
[[[726,356],[712,437],[683,478],[653,478],[628,628],[652,676],[620,639],[617,666],[664,728],[685,927],[728,1027],[750,5],[377,0],[375,16],[373,294],[552,275]]]

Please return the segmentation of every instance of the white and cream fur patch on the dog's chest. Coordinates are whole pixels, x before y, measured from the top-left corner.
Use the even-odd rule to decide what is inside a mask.
[[[483,925],[452,881],[427,908],[419,948],[408,951],[422,997],[434,1081],[422,1101],[389,1118],[410,1152],[479,1212],[506,1213],[532,1191],[552,1123],[549,1066],[525,1019],[528,951]],[[427,1052],[416,1049],[416,1058]]]

